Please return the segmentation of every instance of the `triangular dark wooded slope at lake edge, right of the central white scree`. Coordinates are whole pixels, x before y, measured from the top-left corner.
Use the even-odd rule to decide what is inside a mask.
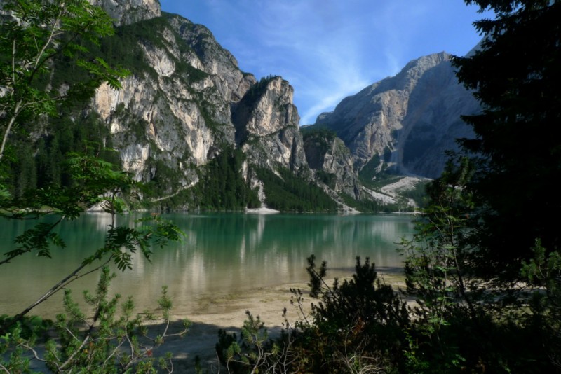
[[[266,205],[284,212],[335,212],[337,202],[311,181],[279,168],[278,174],[269,169],[256,168],[257,177],[264,183]]]

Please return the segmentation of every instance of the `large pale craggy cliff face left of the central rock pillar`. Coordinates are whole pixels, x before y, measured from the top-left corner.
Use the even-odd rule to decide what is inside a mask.
[[[118,32],[134,33],[133,26],[150,29],[130,51],[141,68],[123,80],[121,90],[98,89],[93,110],[110,126],[125,169],[142,181],[167,170],[175,176],[176,186],[167,191],[173,193],[192,185],[196,167],[224,144],[234,144],[230,105],[255,78],[238,69],[208,29],[177,15]]]

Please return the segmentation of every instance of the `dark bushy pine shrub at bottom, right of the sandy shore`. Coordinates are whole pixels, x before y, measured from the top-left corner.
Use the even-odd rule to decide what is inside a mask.
[[[357,257],[353,278],[342,283],[335,279],[332,286],[325,280],[325,261],[316,268],[311,256],[306,270],[310,296],[318,299],[311,306],[311,328],[302,333],[311,334],[309,338],[317,335],[312,340],[317,345],[308,352],[313,370],[353,371],[351,363],[363,372],[366,367],[372,371],[396,366],[402,359],[409,316],[391,286],[377,278],[374,264],[368,258],[361,263]]]

